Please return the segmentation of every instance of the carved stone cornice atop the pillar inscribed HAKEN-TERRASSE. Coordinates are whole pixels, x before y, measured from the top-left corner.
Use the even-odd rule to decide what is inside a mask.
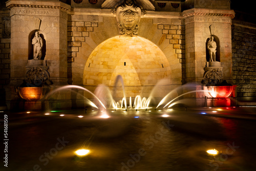
[[[27,7],[27,8],[50,8],[50,9],[60,9],[63,11],[70,11],[71,7],[68,4],[62,2],[38,2],[38,1],[16,1],[9,0],[6,2],[6,7],[12,9],[14,7]]]

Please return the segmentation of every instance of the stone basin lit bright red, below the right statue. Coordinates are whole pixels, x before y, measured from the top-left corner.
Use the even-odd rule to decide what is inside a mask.
[[[226,98],[232,93],[232,86],[206,86],[205,95],[214,98]]]

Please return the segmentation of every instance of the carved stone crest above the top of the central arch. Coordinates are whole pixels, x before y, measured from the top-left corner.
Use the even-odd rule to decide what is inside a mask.
[[[125,0],[111,12],[116,16],[119,34],[123,36],[137,36],[141,16],[146,14],[142,6],[133,0]]]

